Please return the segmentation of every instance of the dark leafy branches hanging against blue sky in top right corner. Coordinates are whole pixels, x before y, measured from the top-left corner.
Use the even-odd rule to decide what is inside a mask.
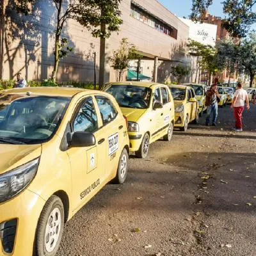
[[[194,21],[203,21],[207,9],[213,0],[192,0],[190,18]],[[250,26],[256,22],[256,13],[253,7],[255,0],[225,0],[223,1],[223,12],[227,15],[224,28],[234,37],[247,35]]]

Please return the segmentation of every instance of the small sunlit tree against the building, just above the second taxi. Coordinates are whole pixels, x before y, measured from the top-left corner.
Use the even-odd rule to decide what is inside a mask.
[[[113,52],[111,58],[112,65],[116,70],[116,81],[120,82],[125,69],[129,67],[129,61],[140,59],[141,55],[135,45],[129,44],[127,38],[122,38],[120,48]]]

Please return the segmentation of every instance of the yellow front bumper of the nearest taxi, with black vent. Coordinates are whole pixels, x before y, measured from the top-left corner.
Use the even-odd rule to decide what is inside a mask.
[[[29,189],[0,204],[0,255],[33,255],[36,226],[44,205],[45,201]]]

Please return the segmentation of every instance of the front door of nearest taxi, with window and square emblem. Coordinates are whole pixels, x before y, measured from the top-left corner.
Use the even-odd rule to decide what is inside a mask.
[[[79,102],[71,120],[71,131],[92,132],[96,139],[92,147],[72,147],[67,150],[72,170],[72,205],[75,210],[96,193],[106,172],[106,135],[100,129],[100,116],[93,97],[86,97]]]

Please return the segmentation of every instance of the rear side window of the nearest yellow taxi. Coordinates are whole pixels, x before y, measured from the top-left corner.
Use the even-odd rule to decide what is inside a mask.
[[[118,112],[108,98],[102,96],[96,96],[95,98],[100,109],[103,125],[106,125],[116,118]]]

